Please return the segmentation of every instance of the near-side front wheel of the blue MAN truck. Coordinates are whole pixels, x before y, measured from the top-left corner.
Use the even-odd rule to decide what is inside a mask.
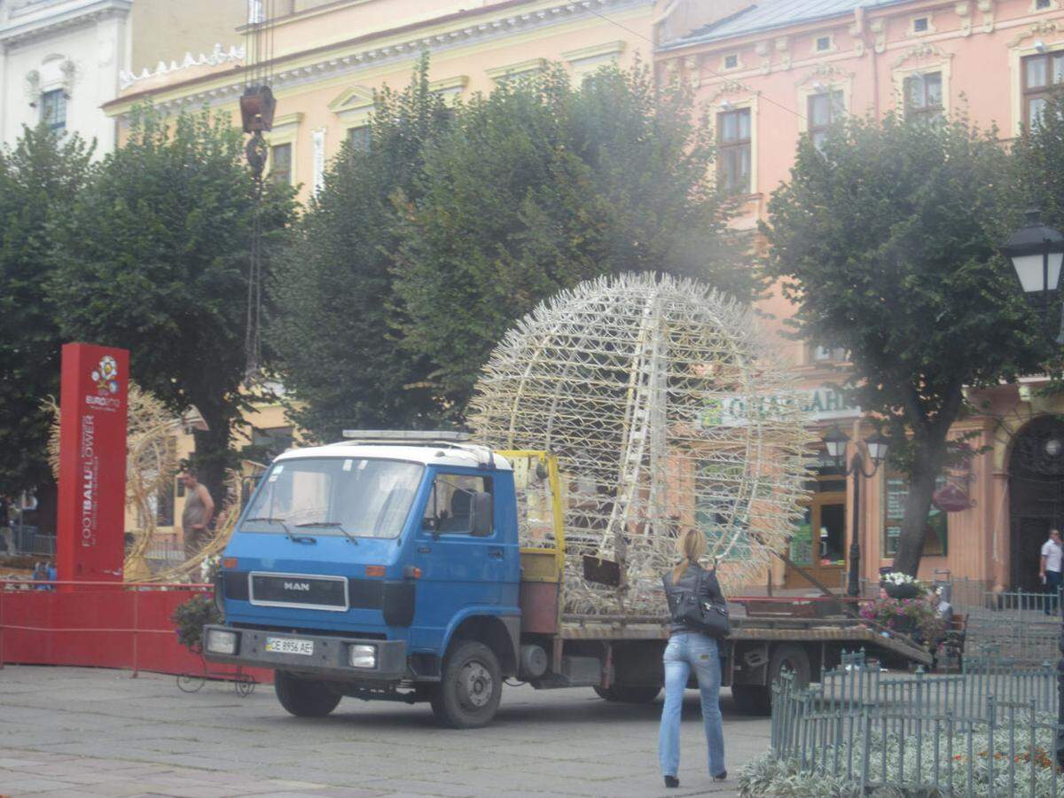
[[[448,655],[444,678],[431,699],[439,721],[452,729],[487,726],[502,698],[499,658],[483,643],[463,641]]]

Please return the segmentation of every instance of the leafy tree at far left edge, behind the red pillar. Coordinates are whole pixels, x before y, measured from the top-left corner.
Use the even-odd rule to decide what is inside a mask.
[[[62,226],[92,168],[92,148],[45,127],[0,150],[0,496],[52,482],[51,415],[63,337],[45,290],[52,230]]]

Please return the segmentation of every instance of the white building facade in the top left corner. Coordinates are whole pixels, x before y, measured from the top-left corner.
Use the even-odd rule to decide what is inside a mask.
[[[0,142],[46,122],[115,146],[100,110],[130,68],[132,0],[0,0]]]

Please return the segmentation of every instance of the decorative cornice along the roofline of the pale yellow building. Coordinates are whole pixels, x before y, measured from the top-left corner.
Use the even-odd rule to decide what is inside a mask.
[[[473,43],[503,38],[515,33],[525,33],[575,19],[595,18],[599,16],[598,10],[600,9],[609,9],[611,12],[617,12],[649,5],[652,5],[651,0],[578,0],[577,2],[561,2],[556,5],[535,11],[518,11],[505,16],[485,19],[483,22],[456,27],[453,30],[425,33],[423,29],[432,23],[430,20],[425,26],[421,26],[421,33],[414,33],[416,29],[411,30],[410,33],[413,35],[410,35],[409,38],[387,44],[373,44],[375,40],[380,41],[383,37],[383,34],[373,34],[355,39],[355,46],[361,45],[361,49],[354,49],[353,51],[344,51],[344,48],[352,47],[352,43],[340,43],[315,50],[320,55],[318,60],[309,63],[294,63],[301,57],[305,57],[305,54],[301,55],[299,53],[278,59],[270,64],[273,69],[273,92],[277,93],[285,88],[322,79],[351,74],[369,67],[402,62],[409,60],[412,55],[425,51],[436,52],[453,47],[464,47]],[[491,13],[492,9],[487,6],[478,11],[483,11],[487,14]],[[234,68],[221,73],[193,78],[187,81],[187,88],[189,89],[187,94],[169,100],[156,100],[155,107],[167,113],[189,104],[220,104],[230,102],[244,90],[242,72],[243,64],[238,66],[234,65]],[[200,83],[213,83],[213,85],[197,90],[195,86]],[[179,82],[171,85],[156,86],[143,92],[135,92],[105,103],[103,110],[109,115],[124,114],[128,113],[129,106],[139,99],[173,92],[182,87],[182,83]]]

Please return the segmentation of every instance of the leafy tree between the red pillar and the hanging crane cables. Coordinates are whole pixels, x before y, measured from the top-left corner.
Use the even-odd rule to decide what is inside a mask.
[[[227,118],[139,109],[74,203],[50,284],[66,336],[128,347],[143,387],[174,412],[200,412],[209,429],[195,431],[194,459],[219,498],[245,401],[254,194]],[[292,209],[290,189],[266,192],[267,245]]]

